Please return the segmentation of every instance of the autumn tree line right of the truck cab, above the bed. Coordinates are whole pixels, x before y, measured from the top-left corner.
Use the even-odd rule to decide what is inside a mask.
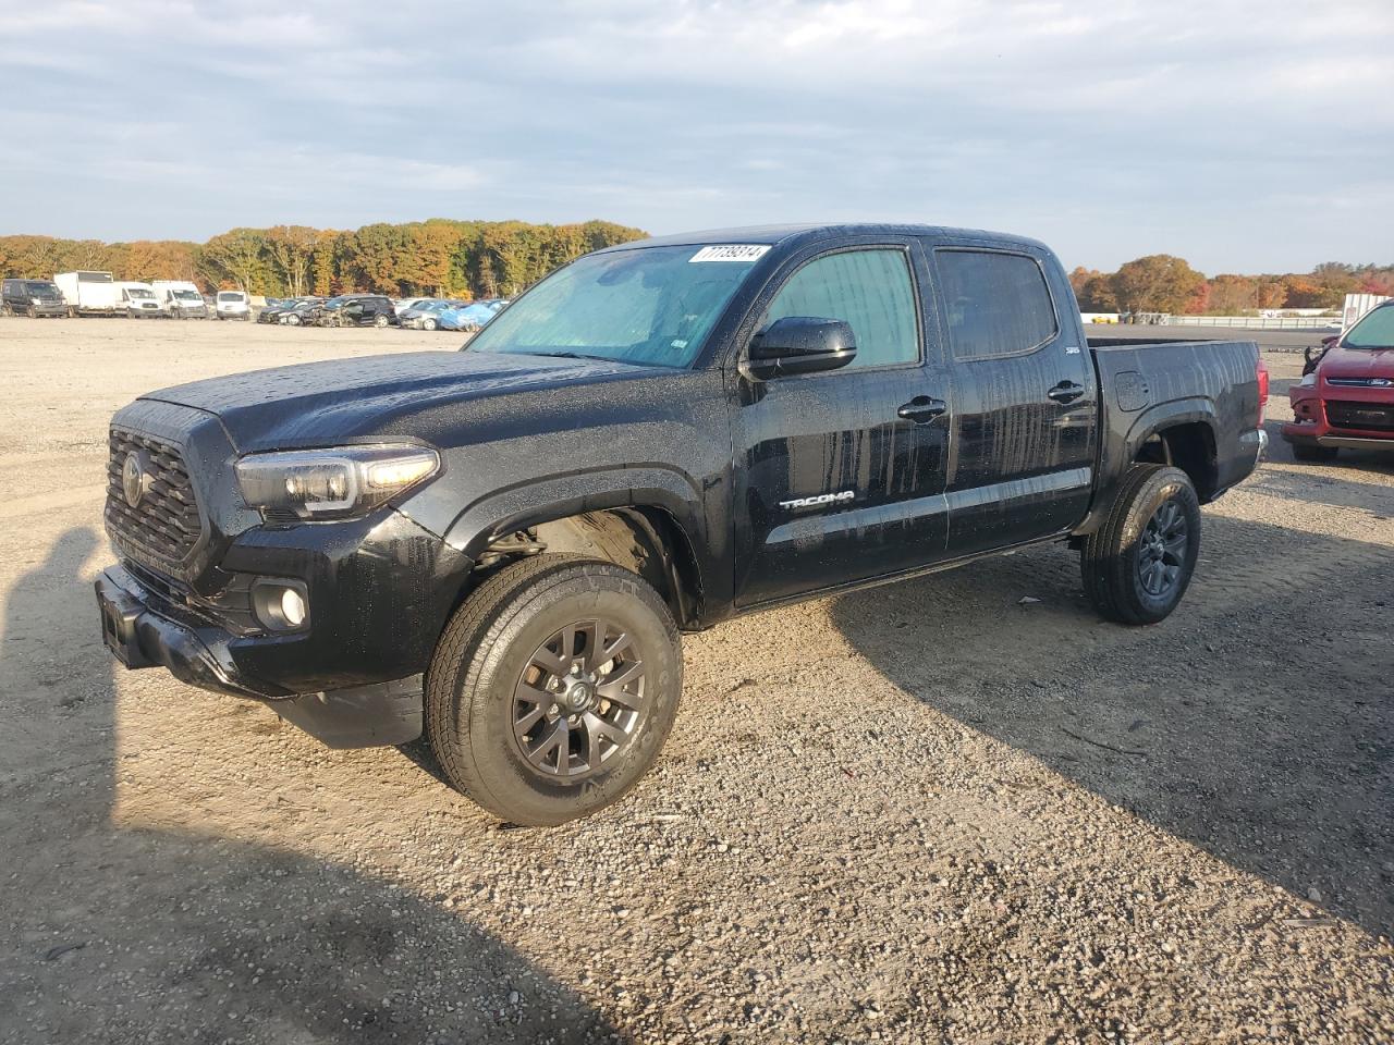
[[[1266,308],[1335,308],[1347,294],[1394,297],[1394,265],[1327,262],[1312,272],[1263,276],[1196,272],[1184,258],[1151,254],[1117,272],[1069,273],[1083,312],[1245,315]]]

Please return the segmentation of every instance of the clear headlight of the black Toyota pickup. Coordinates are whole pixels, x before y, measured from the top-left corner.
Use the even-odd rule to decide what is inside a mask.
[[[237,463],[237,483],[263,518],[364,516],[417,486],[441,468],[421,446],[342,446],[250,454]]]

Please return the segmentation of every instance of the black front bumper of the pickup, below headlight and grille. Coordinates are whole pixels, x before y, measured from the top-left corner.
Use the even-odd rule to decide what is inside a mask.
[[[191,686],[263,701],[336,747],[415,737],[420,676],[473,563],[393,509],[236,536],[223,534],[233,517],[210,518],[185,577],[132,559],[112,532],[125,562],[102,574],[96,599],[113,655],[131,669],[166,667]],[[305,627],[277,631],[256,620],[261,578],[302,585]]]

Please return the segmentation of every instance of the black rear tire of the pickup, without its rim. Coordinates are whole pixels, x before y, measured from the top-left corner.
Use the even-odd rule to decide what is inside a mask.
[[[1167,503],[1179,509],[1186,548],[1174,582],[1161,595],[1149,592],[1139,574],[1142,541],[1149,522]],[[1124,475],[1104,524],[1085,539],[1080,573],[1085,594],[1107,620],[1156,624],[1181,602],[1200,555],[1200,499],[1179,468],[1135,464]]]

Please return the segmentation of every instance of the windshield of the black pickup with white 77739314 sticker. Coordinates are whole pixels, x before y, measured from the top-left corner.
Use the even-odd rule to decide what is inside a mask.
[[[500,312],[468,350],[690,366],[765,249],[742,248],[739,261],[701,245],[588,255]]]

